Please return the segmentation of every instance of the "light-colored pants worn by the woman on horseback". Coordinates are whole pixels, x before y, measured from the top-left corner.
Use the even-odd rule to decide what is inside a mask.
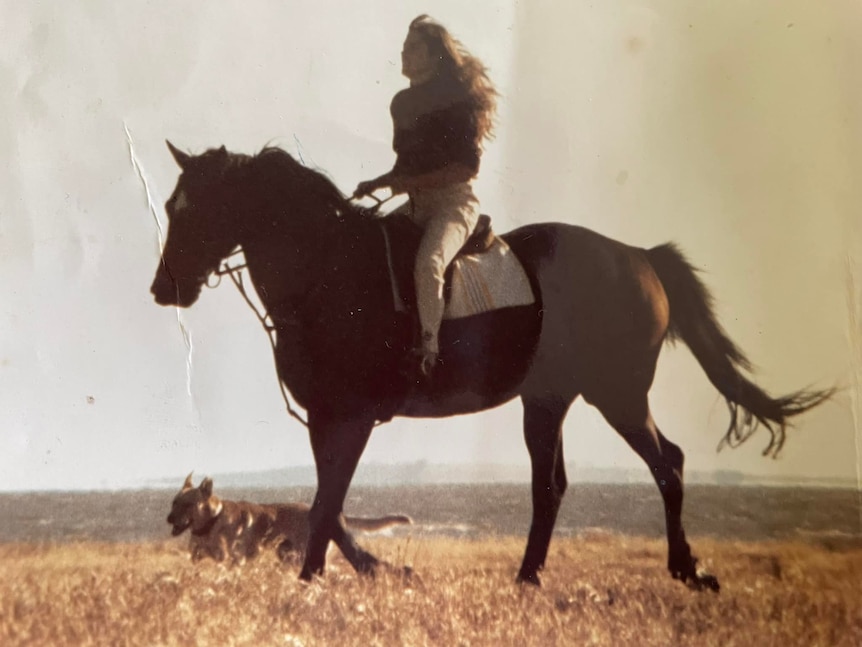
[[[410,218],[424,232],[413,269],[422,348],[439,353],[437,334],[445,307],[444,274],[476,228],[479,201],[472,184],[463,182],[417,191],[410,195],[410,204]]]

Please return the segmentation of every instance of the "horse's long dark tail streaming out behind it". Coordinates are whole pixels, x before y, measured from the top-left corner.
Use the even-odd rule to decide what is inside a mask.
[[[751,371],[751,364],[716,319],[712,295],[682,252],[673,244],[660,245],[647,250],[647,258],[670,304],[667,340],[685,342],[727,401],[730,425],[719,448],[738,446],[763,425],[772,435],[763,455],[777,456],[784,445],[787,419],[821,404],[834,389],[802,390],[779,398],[768,395],[742,374],[741,370]]]

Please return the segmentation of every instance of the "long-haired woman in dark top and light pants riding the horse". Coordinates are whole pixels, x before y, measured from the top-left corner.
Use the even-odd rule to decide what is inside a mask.
[[[360,182],[354,196],[386,187],[410,196],[410,217],[423,229],[414,268],[421,345],[414,352],[428,377],[440,353],[444,273],[479,219],[472,180],[497,93],[485,66],[425,15],[410,23],[401,71],[410,87],[390,106],[395,166]]]

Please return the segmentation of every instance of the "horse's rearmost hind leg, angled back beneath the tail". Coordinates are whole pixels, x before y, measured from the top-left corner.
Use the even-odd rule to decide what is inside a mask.
[[[659,431],[645,394],[630,401],[617,397],[608,402],[613,404],[595,401],[593,404],[646,462],[661,492],[667,526],[668,570],[675,579],[692,588],[718,591],[718,580],[714,576],[697,572],[697,560],[691,554],[682,527],[682,450]]]

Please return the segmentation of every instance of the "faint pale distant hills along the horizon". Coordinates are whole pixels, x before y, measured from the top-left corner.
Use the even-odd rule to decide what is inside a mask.
[[[568,465],[570,483],[649,483],[646,469],[619,469]],[[233,488],[281,488],[291,486],[314,486],[314,467],[287,467],[259,472],[235,472],[226,474],[195,475],[197,478],[211,476],[220,487]],[[713,472],[686,472],[686,483],[723,486],[776,486],[776,487],[829,487],[857,489],[857,483],[840,479],[763,478],[734,470]],[[493,464],[431,464],[424,461],[388,465],[370,463],[360,465],[353,480],[355,485],[440,485],[471,483],[529,483],[529,465]],[[174,488],[176,479],[159,479],[148,485],[156,488]]]

